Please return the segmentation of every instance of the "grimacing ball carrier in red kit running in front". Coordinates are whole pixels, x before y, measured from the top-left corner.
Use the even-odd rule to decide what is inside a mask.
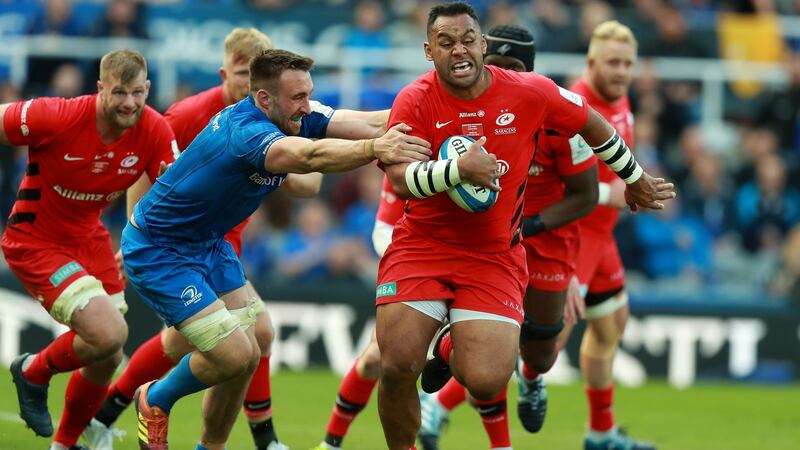
[[[446,317],[452,348],[435,346],[442,370],[433,378],[446,381],[452,368],[473,398],[492,401],[514,370],[528,281],[519,244],[522,194],[540,128],[580,133],[602,160],[612,160],[631,183],[632,207],[661,208],[660,201],[674,196],[671,184],[643,172],[580,96],[537,74],[484,66],[486,41],[468,4],[433,7],[427,32],[425,54],[435,70],[398,94],[389,123],[409,123],[413,135],[434,146],[471,132],[488,140],[480,138],[455,162],[386,166],[395,192],[409,199],[380,263],[376,300],[378,409],[388,447],[398,450],[414,445],[416,379]],[[478,151],[483,144],[490,154]],[[487,212],[471,214],[435,195],[462,180],[499,190],[493,183],[501,174],[498,159],[508,170],[503,192]]]

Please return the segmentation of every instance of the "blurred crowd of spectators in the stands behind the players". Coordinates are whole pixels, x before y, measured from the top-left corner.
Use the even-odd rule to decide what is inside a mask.
[[[132,37],[148,39],[148,8],[163,4],[232,5],[291,10],[293,0],[185,0],[134,2],[4,2],[22,11],[24,26],[0,33]],[[394,0],[317,0],[347,6],[339,44],[386,49],[416,46],[429,5]],[[782,34],[780,18],[800,15],[789,0],[530,0],[473,2],[484,27],[519,23],[534,31],[537,52],[585,54],[589,33],[605,20],[628,24],[640,42],[640,67],[631,100],[636,116],[634,151],[654,175],[674,180],[679,197],[655,214],[623,214],[617,233],[629,274],[667,285],[757,286],[800,298],[800,40]],[[83,9],[93,14],[77,13]],[[748,28],[750,27],[750,28]],[[725,87],[724,122],[702,121],[702,90],[696,81],[661,79],[651,57],[735,58],[737,31],[758,33],[753,60],[785,66],[786,83],[733,82]],[[270,30],[263,30],[270,34]],[[330,36],[328,34],[327,36]],[[310,42],[311,43],[311,42]],[[744,51],[739,49],[740,51]],[[95,60],[30,58],[24,85],[8,81],[0,68],[0,103],[36,96],[74,97],[94,92]],[[386,74],[365,73],[368,106],[386,108]],[[6,80],[3,80],[3,77]],[[569,85],[571,80],[562,79]],[[207,88],[180,80],[175,100]],[[383,83],[383,84],[382,84]],[[400,87],[398,84],[397,88]],[[154,86],[155,89],[158,86]],[[394,89],[394,88],[393,88]],[[320,92],[337,106],[335,96]],[[152,97],[151,97],[152,98]],[[331,101],[333,99],[333,101]],[[26,166],[23,148],[0,149],[0,226],[8,217]],[[254,280],[291,277],[303,282],[328,278],[374,283],[377,255],[370,233],[378,204],[381,172],[373,166],[326,176],[318,199],[269,197],[244,235],[242,259]],[[118,202],[105,217],[118,238],[125,207]],[[274,262],[284,261],[280,266]],[[632,282],[635,283],[636,277]],[[677,283],[676,283],[677,281]]]

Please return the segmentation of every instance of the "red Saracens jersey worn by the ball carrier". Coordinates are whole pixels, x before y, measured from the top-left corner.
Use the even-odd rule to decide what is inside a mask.
[[[542,126],[572,136],[585,125],[585,100],[536,73],[494,66],[489,88],[464,100],[447,93],[435,71],[406,86],[395,99],[389,126],[404,122],[412,134],[429,141],[438,156],[442,142],[453,135],[486,136],[485,148],[508,164],[500,178],[503,191],[484,213],[459,208],[442,192],[406,203],[398,223],[442,243],[479,252],[500,252],[519,240],[523,193],[535,148],[534,134]]]

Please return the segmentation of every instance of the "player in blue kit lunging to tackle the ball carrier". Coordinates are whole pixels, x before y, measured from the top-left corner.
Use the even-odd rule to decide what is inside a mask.
[[[382,130],[344,120],[346,114],[335,120],[333,110],[310,103],[312,65],[283,50],[254,58],[250,95],[214,116],[137,204],[123,231],[130,283],[197,349],[165,378],[137,390],[142,449],[167,448],[170,409],[206,388],[197,448],[224,448],[257,366],[253,301],[224,235],[284,183],[313,193],[321,183],[314,172],[350,170],[375,159],[427,160],[431,153],[427,142],[405,134],[403,124],[374,139],[334,139]]]

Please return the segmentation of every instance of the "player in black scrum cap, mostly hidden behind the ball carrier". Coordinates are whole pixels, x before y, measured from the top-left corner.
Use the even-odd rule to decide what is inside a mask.
[[[484,63],[517,72],[533,71],[535,48],[528,30],[499,25],[486,33],[486,41]],[[523,209],[522,245],[530,273],[524,300],[525,322],[533,323],[538,332],[521,336],[520,347],[525,359],[535,363],[542,373],[555,360],[555,340],[562,327],[567,285],[575,272],[578,248],[575,220],[597,204],[597,168],[591,149],[586,145],[564,149],[560,142],[551,142],[561,139],[564,138],[548,135],[547,130],[536,135],[537,149],[528,171]],[[540,383],[541,377],[532,380]],[[511,447],[506,392],[504,389],[492,402],[475,405],[493,449]],[[439,448],[442,425],[449,412],[466,397],[464,387],[455,378],[435,394],[420,394],[419,440],[423,449]],[[528,399],[523,399],[518,405],[523,426],[528,431],[538,431],[543,415],[530,415],[531,408],[525,403]],[[545,399],[535,398],[540,402]],[[535,411],[539,413],[542,408]]]

